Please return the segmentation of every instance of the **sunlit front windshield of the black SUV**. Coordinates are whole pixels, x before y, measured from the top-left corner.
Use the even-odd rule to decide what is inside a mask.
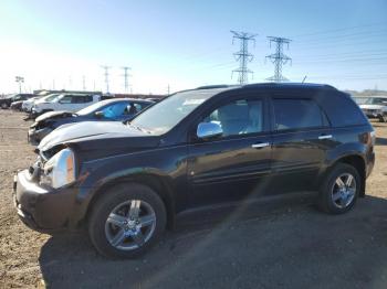
[[[215,93],[219,93],[219,89],[177,93],[146,109],[129,125],[148,130],[150,133],[163,135],[179,124]]]

